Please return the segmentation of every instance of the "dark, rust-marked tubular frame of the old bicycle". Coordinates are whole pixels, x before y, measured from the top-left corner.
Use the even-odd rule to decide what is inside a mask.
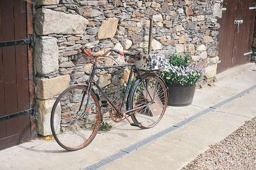
[[[123,101],[122,101],[122,104],[121,104],[121,109],[119,110],[117,107],[116,107],[116,105],[109,99],[109,97],[107,96],[107,94],[102,90],[102,88],[99,86],[99,84],[97,84],[97,82],[95,82],[94,80],[93,80],[93,78],[94,78],[94,76],[95,76],[95,74],[96,74],[96,70],[102,70],[102,69],[107,69],[107,68],[123,68],[123,67],[130,67],[131,66],[131,70],[130,70],[130,75],[129,75],[129,78],[128,78],[128,82],[127,82],[127,86],[126,86],[126,91],[125,91],[125,93],[124,93],[124,97],[123,97]],[[95,85],[97,88],[98,88],[98,90],[102,93],[102,95],[104,95],[104,97],[107,99],[107,101],[109,102],[109,104],[111,105],[111,107],[113,107],[115,110],[116,110],[116,112],[117,112],[117,114],[127,114],[127,113],[129,113],[129,112],[133,112],[135,109],[140,109],[141,107],[145,107],[145,106],[147,106],[147,105],[151,105],[152,103],[149,103],[149,104],[147,104],[147,105],[143,105],[143,106],[141,106],[141,107],[137,107],[137,108],[135,108],[135,109],[130,109],[130,110],[124,110],[123,109],[123,107],[124,107],[124,105],[125,105],[125,101],[126,101],[126,97],[127,97],[127,95],[128,95],[128,90],[129,90],[129,86],[130,86],[130,82],[131,82],[131,79],[132,79],[132,75],[133,75],[133,72],[134,72],[134,70],[137,70],[137,72],[138,72],[138,69],[137,69],[137,67],[136,67],[136,65],[135,65],[135,63],[132,63],[132,64],[124,64],[124,65],[111,65],[111,66],[100,66],[100,67],[98,67],[97,65],[95,65],[95,64],[93,64],[93,66],[92,66],[92,70],[91,70],[91,73],[90,73],[90,78],[89,78],[89,82],[88,82],[88,100],[87,100],[87,103],[86,103],[86,106],[85,106],[85,110],[87,109],[87,105],[88,105],[88,101],[89,101],[89,96],[90,96],[90,93],[91,93],[91,91],[92,91],[92,87],[93,87],[93,85]],[[159,72],[160,73],[160,72]],[[140,75],[140,73],[138,72],[138,75],[139,75],[139,77],[141,78],[141,75]],[[159,76],[159,74],[158,74],[158,76]],[[143,82],[143,84],[144,84],[144,82]],[[158,84],[158,81],[156,82],[156,86],[157,86],[157,84]],[[146,88],[146,85],[144,84],[144,86],[145,86],[145,89],[147,90],[147,94],[149,95],[149,97],[151,98],[151,100],[153,101],[154,100],[154,98],[152,98],[151,97],[151,95],[150,95],[150,93],[149,93],[149,91],[148,91],[148,89]],[[154,94],[155,95],[155,94]],[[85,114],[85,113],[84,113]]]

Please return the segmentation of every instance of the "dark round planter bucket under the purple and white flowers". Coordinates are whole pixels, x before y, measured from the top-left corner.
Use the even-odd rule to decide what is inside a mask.
[[[170,95],[167,101],[168,106],[182,107],[192,104],[196,84],[167,83],[167,86]]]

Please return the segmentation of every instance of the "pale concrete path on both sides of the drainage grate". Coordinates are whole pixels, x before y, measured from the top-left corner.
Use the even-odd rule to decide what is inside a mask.
[[[82,169],[151,135],[188,119],[256,84],[254,63],[217,75],[218,82],[197,89],[192,105],[168,107],[157,126],[140,130],[127,121],[113,123],[109,132],[97,134],[78,151],[65,151],[55,140],[33,140],[0,151],[0,169]],[[256,116],[256,89],[168,133],[101,169],[178,170]]]

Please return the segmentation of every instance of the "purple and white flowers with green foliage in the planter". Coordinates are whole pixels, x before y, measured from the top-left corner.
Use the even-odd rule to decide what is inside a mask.
[[[189,63],[189,56],[184,58],[173,54],[169,62],[166,61],[161,77],[168,83],[195,84],[204,76],[201,67]]]

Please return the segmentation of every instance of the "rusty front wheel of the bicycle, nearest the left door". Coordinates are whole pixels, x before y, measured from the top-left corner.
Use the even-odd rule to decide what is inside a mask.
[[[51,129],[57,143],[64,149],[75,151],[86,147],[99,129],[101,110],[93,91],[89,95],[85,86],[73,86],[56,99],[51,113]]]

